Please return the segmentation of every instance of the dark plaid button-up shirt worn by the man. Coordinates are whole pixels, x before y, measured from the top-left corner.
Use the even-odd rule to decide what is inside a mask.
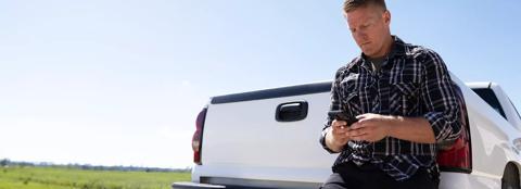
[[[459,99],[441,56],[427,48],[405,43],[393,36],[392,53],[379,72],[365,55],[338,70],[331,87],[330,110],[353,116],[364,113],[424,117],[432,126],[436,143],[455,140],[461,131]],[[330,153],[325,137],[332,117],[327,117],[320,143]],[[350,141],[333,167],[354,162],[373,163],[396,180],[407,179],[419,167],[437,172],[436,144],[417,143],[385,137],[377,142]]]

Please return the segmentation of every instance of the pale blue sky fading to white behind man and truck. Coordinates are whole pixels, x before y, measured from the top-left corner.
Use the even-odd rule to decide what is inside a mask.
[[[0,159],[191,166],[209,97],[331,80],[342,0],[0,0]],[[387,0],[392,33],[521,105],[517,0]]]

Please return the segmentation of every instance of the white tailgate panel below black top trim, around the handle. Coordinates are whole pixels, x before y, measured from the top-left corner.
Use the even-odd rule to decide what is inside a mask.
[[[202,147],[207,175],[201,176],[218,168],[220,177],[323,181],[335,158],[318,142],[329,99],[329,92],[319,92],[211,104]],[[288,102],[307,102],[307,115],[315,116],[278,122],[276,110]]]

